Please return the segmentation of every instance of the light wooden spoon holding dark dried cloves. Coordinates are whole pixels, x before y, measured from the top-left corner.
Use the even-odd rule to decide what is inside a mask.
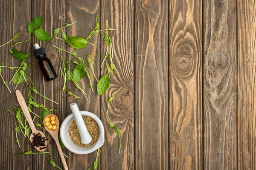
[[[32,138],[34,137],[34,133],[35,134],[40,133],[40,135],[42,137],[45,137],[45,134],[42,131],[37,130],[35,128],[35,125],[34,125],[34,122],[32,120],[32,117],[31,117],[31,115],[29,113],[29,109],[28,109],[28,107],[26,105],[26,101],[25,101],[24,97],[22,96],[22,94],[20,93],[19,90],[16,90],[16,96],[17,96],[18,102],[20,104],[20,107],[21,107],[21,109],[22,109],[22,111],[23,111],[23,113],[24,113],[24,115],[25,115],[25,117],[26,117],[26,119],[27,119],[27,121],[29,123],[29,126],[30,126],[31,130],[32,130],[32,133],[31,133],[30,138],[29,138],[30,142],[32,143],[32,141],[33,141]],[[39,147],[35,147],[34,146],[34,147],[39,152],[44,152],[44,150],[46,150],[46,147],[47,147],[47,141],[45,141],[44,144],[45,144],[45,146],[39,146]],[[45,147],[45,148],[44,149],[40,149],[41,147]]]

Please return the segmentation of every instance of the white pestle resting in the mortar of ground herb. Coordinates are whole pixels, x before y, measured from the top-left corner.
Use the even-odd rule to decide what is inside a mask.
[[[92,136],[90,136],[90,133],[88,132],[87,127],[85,126],[84,120],[81,116],[78,106],[76,105],[76,103],[71,103],[70,108],[74,115],[82,144],[89,144],[90,142],[92,142]]]

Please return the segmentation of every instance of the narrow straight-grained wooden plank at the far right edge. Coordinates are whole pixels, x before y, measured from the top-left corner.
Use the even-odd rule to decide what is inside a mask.
[[[239,170],[255,170],[256,1],[238,0],[237,4],[237,161]]]

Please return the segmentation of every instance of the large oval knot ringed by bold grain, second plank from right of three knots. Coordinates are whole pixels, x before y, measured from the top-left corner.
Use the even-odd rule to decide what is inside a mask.
[[[174,59],[175,69],[177,72],[182,77],[188,77],[191,74],[193,68],[194,60],[192,55],[188,51],[182,50],[175,55]]]

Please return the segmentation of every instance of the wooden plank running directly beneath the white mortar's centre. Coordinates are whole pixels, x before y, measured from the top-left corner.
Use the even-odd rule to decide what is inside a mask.
[[[96,14],[99,12],[99,0],[91,1],[91,0],[67,0],[66,3],[67,8],[67,23],[73,23],[77,20],[77,23],[67,29],[67,36],[79,36],[79,37],[87,37],[87,34],[93,30],[96,22]],[[81,56],[87,62],[87,54],[91,53],[91,57],[93,55],[97,55],[94,60],[93,67],[96,77],[99,79],[100,74],[100,58],[99,58],[99,40],[98,37],[100,35],[94,36],[92,38],[91,43],[95,44],[95,46],[87,45],[84,49],[78,50],[78,56]],[[67,49],[69,49],[69,45],[67,45]],[[70,51],[74,49],[71,48]],[[71,58],[71,57],[70,57]],[[87,65],[87,64],[86,64]],[[88,66],[88,65],[87,65]],[[89,67],[88,67],[89,68]],[[68,96],[67,98],[67,115],[71,113],[70,104],[72,102],[76,102],[79,106],[80,111],[89,111],[91,113],[96,114],[100,117],[100,98],[96,92],[97,82],[93,79],[93,74],[90,72],[90,77],[93,83],[94,93],[91,91],[89,86],[89,80],[85,76],[82,80],[79,81],[79,85],[82,89],[87,93],[87,97],[89,101],[87,101],[84,96],[82,96],[79,90],[76,90],[73,82],[67,83],[68,90],[78,94],[78,96],[82,97],[82,99],[73,99],[72,96]],[[100,156],[102,154],[100,153]],[[81,170],[87,169],[96,159],[96,151],[87,155],[77,155],[70,153],[68,159],[68,166],[73,170]],[[99,168],[98,168],[99,169]]]

